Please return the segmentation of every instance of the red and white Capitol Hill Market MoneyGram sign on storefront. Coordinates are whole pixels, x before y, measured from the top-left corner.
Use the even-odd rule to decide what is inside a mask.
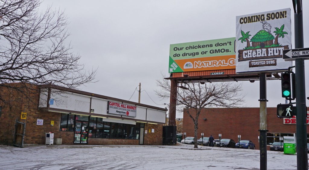
[[[136,117],[136,106],[108,101],[107,113]]]

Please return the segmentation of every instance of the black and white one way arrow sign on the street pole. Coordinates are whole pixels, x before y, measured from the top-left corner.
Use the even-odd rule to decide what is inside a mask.
[[[282,58],[285,61],[292,61],[299,58],[305,58],[307,60],[309,59],[309,48],[283,50]]]

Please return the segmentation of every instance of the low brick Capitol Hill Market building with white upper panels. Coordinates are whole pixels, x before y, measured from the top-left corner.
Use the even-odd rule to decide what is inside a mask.
[[[15,98],[2,106],[0,144],[45,144],[51,132],[62,144],[162,145],[165,108],[53,85],[26,86],[26,94],[0,89],[2,98]]]

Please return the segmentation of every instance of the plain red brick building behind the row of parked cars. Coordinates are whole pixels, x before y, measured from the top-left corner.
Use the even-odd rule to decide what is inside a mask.
[[[309,124],[308,110],[307,108],[307,124]],[[259,129],[259,107],[212,108],[201,111],[198,119],[197,135],[200,138],[200,134],[204,133],[204,136],[213,135],[215,139],[219,139],[218,134],[222,134],[222,139],[233,139],[236,142],[238,141],[238,135],[241,135],[241,140],[251,140],[258,149],[260,147],[258,141]],[[279,142],[279,137],[294,136],[296,134],[296,117],[280,119],[277,117],[277,108],[268,107],[267,130],[267,144]],[[194,137],[193,121],[185,112],[183,132],[186,132],[186,136]],[[309,126],[307,126],[307,132],[309,132]],[[307,139],[309,143],[308,135]]]

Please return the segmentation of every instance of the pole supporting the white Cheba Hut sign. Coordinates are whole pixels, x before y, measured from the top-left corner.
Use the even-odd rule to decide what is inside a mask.
[[[266,74],[260,74],[260,170],[267,170]]]

